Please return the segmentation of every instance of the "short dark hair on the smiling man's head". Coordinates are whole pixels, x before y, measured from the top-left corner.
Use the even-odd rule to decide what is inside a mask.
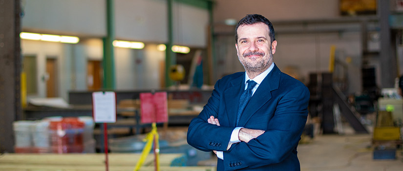
[[[257,22],[263,22],[264,24],[266,24],[269,27],[269,36],[270,36],[270,40],[271,43],[273,43],[273,41],[276,40],[275,38],[275,34],[274,34],[274,28],[273,28],[273,24],[266,19],[265,17],[259,15],[259,14],[248,14],[246,15],[243,19],[241,19],[238,24],[236,24],[235,27],[235,43],[238,43],[238,27],[242,26],[242,25],[251,25],[251,24],[255,24]]]

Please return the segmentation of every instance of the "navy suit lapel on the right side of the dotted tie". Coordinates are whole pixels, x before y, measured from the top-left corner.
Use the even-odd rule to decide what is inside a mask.
[[[281,71],[275,65],[273,70],[263,79],[262,83],[257,87],[254,95],[243,111],[239,126],[242,127],[248,122],[255,112],[272,99],[272,91],[277,89],[280,83]]]

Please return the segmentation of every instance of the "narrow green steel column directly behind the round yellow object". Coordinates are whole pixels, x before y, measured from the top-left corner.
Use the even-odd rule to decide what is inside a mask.
[[[172,0],[167,0],[168,7],[168,43],[167,49],[165,50],[165,87],[173,85],[173,81],[170,79],[170,66],[176,64],[175,53],[172,52],[171,48],[173,45],[173,24],[172,24]]]

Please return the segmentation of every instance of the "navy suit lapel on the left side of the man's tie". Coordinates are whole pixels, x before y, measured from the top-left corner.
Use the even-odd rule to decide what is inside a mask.
[[[235,126],[236,114],[238,112],[239,98],[241,96],[242,88],[245,89],[245,74],[237,77],[231,81],[230,87],[224,91],[225,107],[227,110],[227,117],[230,126]]]

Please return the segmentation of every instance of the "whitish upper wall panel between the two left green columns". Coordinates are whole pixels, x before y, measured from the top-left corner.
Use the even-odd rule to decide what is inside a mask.
[[[115,0],[116,38],[165,43],[167,13],[166,0]]]

